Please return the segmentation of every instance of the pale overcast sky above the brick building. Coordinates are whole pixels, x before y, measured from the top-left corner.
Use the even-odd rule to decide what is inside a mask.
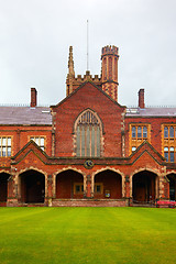
[[[119,102],[176,105],[175,0],[0,0],[0,103],[40,105],[65,97],[69,45],[75,72],[100,75],[101,47],[119,46]]]

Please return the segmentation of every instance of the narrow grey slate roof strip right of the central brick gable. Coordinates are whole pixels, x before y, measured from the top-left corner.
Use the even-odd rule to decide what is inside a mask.
[[[127,108],[127,117],[176,117],[176,108],[151,107],[151,108]]]

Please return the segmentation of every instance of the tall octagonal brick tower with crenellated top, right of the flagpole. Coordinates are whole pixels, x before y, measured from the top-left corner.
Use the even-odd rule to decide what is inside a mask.
[[[116,46],[105,46],[101,53],[101,81],[102,90],[113,100],[118,101],[118,59],[119,48]]]

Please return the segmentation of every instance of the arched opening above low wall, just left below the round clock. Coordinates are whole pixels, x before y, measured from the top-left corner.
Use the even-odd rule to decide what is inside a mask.
[[[57,199],[84,198],[84,176],[73,169],[61,172],[56,175]]]

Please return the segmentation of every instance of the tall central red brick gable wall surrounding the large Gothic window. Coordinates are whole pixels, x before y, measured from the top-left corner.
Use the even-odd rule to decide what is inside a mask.
[[[105,133],[101,139],[100,156],[122,156],[121,133],[125,107],[120,106],[99,87],[87,81],[51,108],[56,156],[76,156],[74,124],[78,116],[86,109],[97,113],[102,121]]]

